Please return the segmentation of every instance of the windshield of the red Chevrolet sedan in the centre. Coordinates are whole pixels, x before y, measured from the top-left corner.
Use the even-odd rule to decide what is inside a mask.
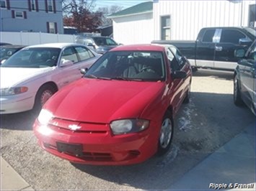
[[[162,52],[113,51],[107,52],[90,67],[84,78],[107,80],[165,80]]]

